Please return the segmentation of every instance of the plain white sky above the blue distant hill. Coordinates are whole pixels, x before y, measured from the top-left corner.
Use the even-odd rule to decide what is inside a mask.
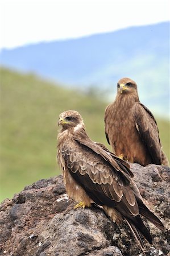
[[[170,19],[169,0],[0,0],[0,49]]]

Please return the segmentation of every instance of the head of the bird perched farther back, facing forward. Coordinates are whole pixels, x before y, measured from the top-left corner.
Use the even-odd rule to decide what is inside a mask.
[[[127,77],[118,81],[117,88],[120,94],[137,92],[136,82]]]

